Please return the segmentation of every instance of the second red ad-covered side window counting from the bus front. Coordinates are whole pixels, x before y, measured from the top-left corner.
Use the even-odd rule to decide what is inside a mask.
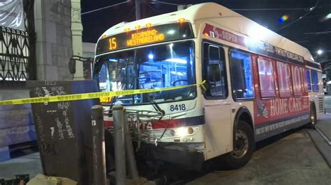
[[[280,97],[290,97],[290,66],[277,62],[277,74]]]

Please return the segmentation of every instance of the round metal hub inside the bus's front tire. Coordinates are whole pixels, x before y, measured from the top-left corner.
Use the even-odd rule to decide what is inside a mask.
[[[235,145],[233,148],[232,155],[235,158],[242,158],[247,153],[249,147],[249,140],[247,134],[244,131],[238,129],[235,134]]]

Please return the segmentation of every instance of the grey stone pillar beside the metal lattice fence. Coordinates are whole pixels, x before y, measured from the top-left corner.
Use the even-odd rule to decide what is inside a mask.
[[[70,0],[36,0],[36,52],[38,80],[68,80],[73,55]]]

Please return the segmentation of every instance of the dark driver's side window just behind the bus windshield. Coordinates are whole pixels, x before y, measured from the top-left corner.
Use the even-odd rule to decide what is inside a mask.
[[[224,49],[205,43],[204,59],[203,79],[207,81],[206,97],[228,97]]]

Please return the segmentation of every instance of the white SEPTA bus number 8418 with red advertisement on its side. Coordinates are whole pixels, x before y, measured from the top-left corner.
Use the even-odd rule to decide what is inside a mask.
[[[162,112],[140,124],[151,160],[198,168],[221,156],[229,168],[251,158],[255,143],[323,114],[321,65],[309,51],[216,3],[135,22],[98,39],[94,79],[101,91],[198,87],[103,99]],[[157,108],[156,108],[157,106]],[[106,127],[112,118],[105,116]]]

